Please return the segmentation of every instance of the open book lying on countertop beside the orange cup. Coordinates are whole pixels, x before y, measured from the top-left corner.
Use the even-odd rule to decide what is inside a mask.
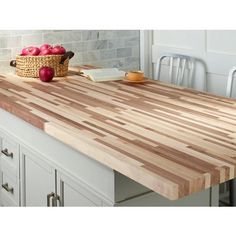
[[[80,70],[80,73],[94,82],[122,80],[125,72],[117,68]]]

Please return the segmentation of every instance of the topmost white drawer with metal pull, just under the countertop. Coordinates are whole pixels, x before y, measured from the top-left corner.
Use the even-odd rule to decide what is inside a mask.
[[[1,163],[15,175],[18,173],[19,167],[19,144],[8,136],[2,137]]]

